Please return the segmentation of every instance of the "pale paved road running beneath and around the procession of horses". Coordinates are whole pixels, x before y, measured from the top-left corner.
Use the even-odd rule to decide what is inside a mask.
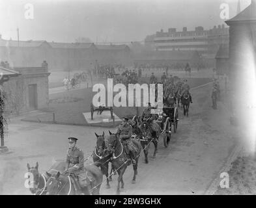
[[[218,110],[210,106],[210,86],[193,91],[189,117],[179,111],[178,132],[168,148],[160,140],[156,159],[139,159],[137,183],[131,184],[132,167],[124,174],[122,194],[203,194],[235,146],[235,129],[229,124],[229,112],[219,103]],[[110,129],[113,130],[113,129]],[[30,194],[24,187],[27,162],[39,162],[40,172],[57,159],[64,159],[68,136],[79,138],[78,146],[85,156],[91,155],[96,138],[94,132],[107,129],[73,125],[47,125],[11,120],[6,145],[13,153],[0,157],[0,194]],[[150,155],[152,155],[152,146]],[[90,161],[89,161],[90,162]],[[117,177],[111,188],[102,184],[101,194],[115,194]]]

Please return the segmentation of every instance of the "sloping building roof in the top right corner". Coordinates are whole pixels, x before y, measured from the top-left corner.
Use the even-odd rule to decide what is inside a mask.
[[[229,23],[236,23],[236,22],[244,22],[244,21],[256,21],[256,0],[251,0],[251,5],[246,7],[242,12],[237,14],[234,18],[231,18],[225,23],[229,25]]]

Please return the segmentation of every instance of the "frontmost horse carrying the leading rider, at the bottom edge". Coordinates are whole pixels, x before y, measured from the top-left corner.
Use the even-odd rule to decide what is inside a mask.
[[[85,170],[92,175],[94,179],[93,183],[91,182],[90,185],[87,186],[87,191],[83,192],[83,194],[92,194],[98,195],[100,194],[100,186],[103,181],[103,174],[100,170],[102,164],[100,162],[94,162],[94,164],[89,164],[85,166]],[[74,179],[71,175],[64,175],[60,172],[57,174],[50,174],[46,172],[49,179],[46,183],[47,193],[46,195],[76,195],[78,194],[77,188],[75,187]]]

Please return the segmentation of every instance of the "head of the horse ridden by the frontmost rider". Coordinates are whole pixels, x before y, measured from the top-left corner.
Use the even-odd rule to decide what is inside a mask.
[[[46,187],[47,187],[46,195],[59,194],[61,188],[63,187],[63,182],[59,179],[59,176],[61,175],[60,172],[57,172],[56,175],[51,175],[48,172],[46,172],[46,174],[49,177],[46,183]]]

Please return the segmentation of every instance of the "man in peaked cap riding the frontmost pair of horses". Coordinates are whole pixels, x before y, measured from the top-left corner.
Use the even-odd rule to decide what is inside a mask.
[[[83,192],[83,194],[88,194],[86,182],[87,174],[83,165],[84,155],[83,151],[76,147],[77,140],[78,138],[74,137],[68,138],[68,143],[70,147],[68,148],[66,155],[66,170],[64,172],[69,172],[76,175],[76,177],[78,177],[79,185],[81,187],[81,192]]]

